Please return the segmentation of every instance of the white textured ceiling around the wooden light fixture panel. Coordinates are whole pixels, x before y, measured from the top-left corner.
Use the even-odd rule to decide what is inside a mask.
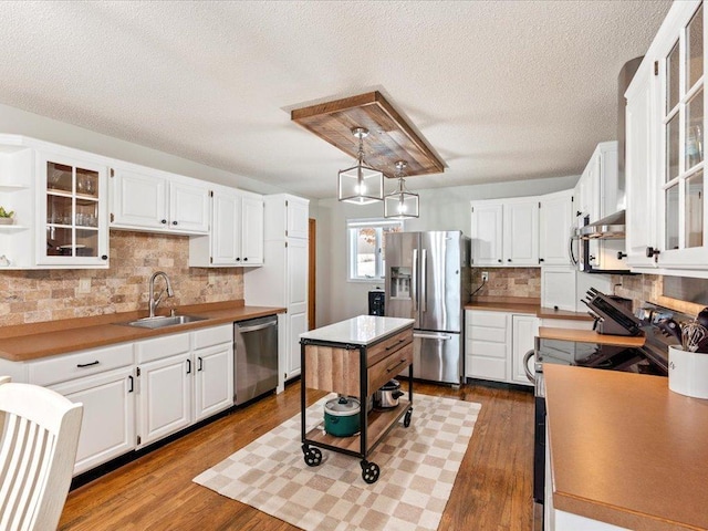
[[[325,198],[352,159],[290,111],[378,90],[447,165],[412,189],[579,175],[669,7],[1,1],[0,103]]]

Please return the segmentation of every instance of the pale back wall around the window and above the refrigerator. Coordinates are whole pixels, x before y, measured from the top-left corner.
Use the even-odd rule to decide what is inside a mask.
[[[407,220],[405,230],[461,230],[470,233],[470,205],[476,199],[497,199],[550,194],[573,188],[579,176],[534,179],[490,185],[458,186],[416,190],[415,178],[408,183],[420,194],[420,217]],[[383,204],[350,205],[336,199],[321,199],[317,209],[317,303],[316,324],[323,326],[368,311],[367,292],[383,282],[346,280],[346,220],[382,218]]]

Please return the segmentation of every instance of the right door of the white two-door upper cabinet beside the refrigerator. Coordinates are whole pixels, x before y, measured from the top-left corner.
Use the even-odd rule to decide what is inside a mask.
[[[506,266],[539,264],[539,200],[504,205],[503,246]]]

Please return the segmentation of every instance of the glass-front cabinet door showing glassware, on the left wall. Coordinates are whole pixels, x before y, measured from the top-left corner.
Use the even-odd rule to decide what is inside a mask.
[[[38,264],[107,267],[106,167],[38,153]]]

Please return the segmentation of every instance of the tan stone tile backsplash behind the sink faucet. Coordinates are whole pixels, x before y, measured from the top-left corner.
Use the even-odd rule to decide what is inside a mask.
[[[175,291],[160,308],[243,299],[241,268],[189,268],[188,259],[188,237],[112,231],[110,269],[0,271],[0,326],[147,311],[155,271]],[[81,279],[91,280],[88,293],[79,292]]]

